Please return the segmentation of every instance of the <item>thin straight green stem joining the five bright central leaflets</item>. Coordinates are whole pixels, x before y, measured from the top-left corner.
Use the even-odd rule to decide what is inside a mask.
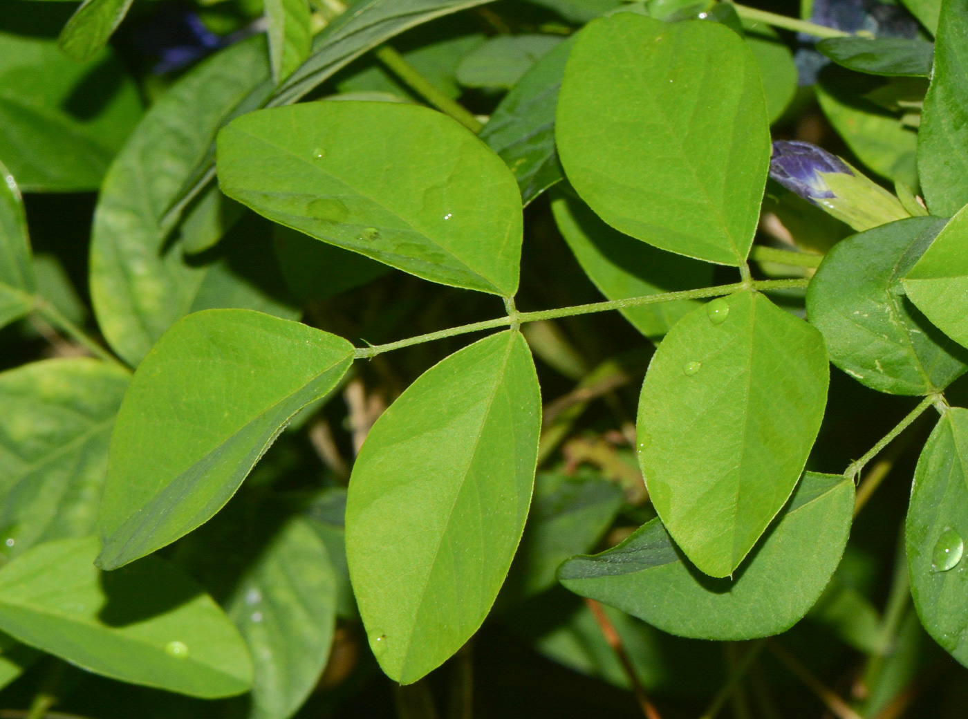
[[[536,312],[513,312],[506,317],[495,317],[485,319],[481,322],[471,322],[462,324],[458,327],[450,327],[438,332],[429,332],[426,335],[409,337],[399,342],[391,342],[386,345],[370,345],[368,347],[357,347],[354,356],[356,359],[375,357],[383,352],[394,349],[402,349],[412,345],[422,345],[435,340],[443,340],[456,335],[466,335],[469,332],[480,330],[490,330],[497,327],[509,327],[525,322],[535,322],[539,319],[556,319],[558,317],[571,317],[575,315],[590,315],[596,312],[608,312],[609,310],[621,310],[626,307],[642,307],[643,305],[653,305],[661,302],[672,302],[674,300],[695,300],[705,297],[720,297],[726,294],[733,294],[744,289],[770,290],[788,289],[792,287],[805,287],[809,285],[809,280],[760,280],[754,281],[749,285],[745,283],[734,283],[733,285],[716,285],[714,287],[702,287],[701,289],[684,289],[680,292],[663,292],[661,294],[647,294],[643,297],[628,297],[622,300],[608,300],[606,302],[592,302],[588,305],[575,305],[573,307],[560,307],[555,310],[538,310]]]

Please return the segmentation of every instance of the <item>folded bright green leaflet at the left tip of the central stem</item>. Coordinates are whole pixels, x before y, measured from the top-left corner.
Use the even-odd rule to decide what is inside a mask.
[[[98,565],[116,569],[208,521],[352,357],[342,338],[248,310],[172,326],[138,366],[111,436]]]

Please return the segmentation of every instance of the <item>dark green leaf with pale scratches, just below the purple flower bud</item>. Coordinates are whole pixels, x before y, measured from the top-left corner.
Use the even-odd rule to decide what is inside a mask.
[[[944,225],[918,217],[848,237],[806,291],[807,315],[833,364],[879,392],[926,395],[968,370],[968,353],[931,326],[901,285]]]

